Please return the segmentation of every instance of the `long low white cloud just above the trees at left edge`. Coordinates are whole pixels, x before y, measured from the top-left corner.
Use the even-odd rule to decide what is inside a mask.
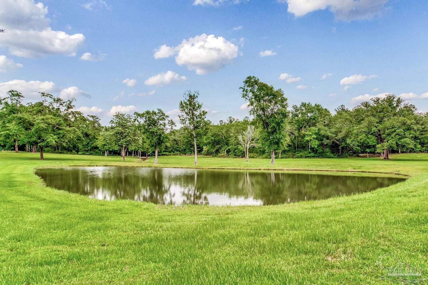
[[[25,81],[25,80],[10,80],[0,82],[0,96],[6,94],[9,90],[21,92],[25,98],[35,99],[40,98],[39,92],[56,93],[59,88],[52,81]]]

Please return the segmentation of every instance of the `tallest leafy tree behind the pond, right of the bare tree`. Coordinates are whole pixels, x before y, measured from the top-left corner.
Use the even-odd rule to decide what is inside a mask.
[[[284,148],[287,142],[285,132],[288,118],[288,103],[284,92],[273,86],[263,83],[255,76],[244,80],[242,98],[248,101],[250,114],[258,119],[263,128],[262,142],[270,150],[270,164],[275,163],[275,151]]]

